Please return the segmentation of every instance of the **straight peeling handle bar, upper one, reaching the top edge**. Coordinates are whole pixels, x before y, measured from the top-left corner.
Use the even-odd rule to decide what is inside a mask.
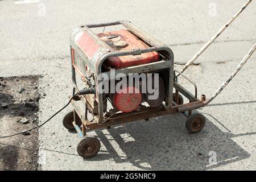
[[[189,60],[189,61],[184,65],[184,67],[180,70],[181,73],[183,73],[188,67],[190,67],[190,66],[193,64],[193,62],[195,62],[195,60],[210,46],[210,44],[212,44],[212,43],[214,42],[214,40],[216,40],[216,39],[222,34],[222,32],[224,32],[224,31],[226,30],[226,28],[228,28],[228,26],[237,18],[237,16],[239,16],[239,15],[243,12],[243,10],[246,9],[246,7],[251,3],[251,1],[252,1],[252,0],[248,0],[248,1],[245,3],[245,5],[243,5],[243,6],[241,7],[241,9],[238,10],[237,13],[234,14],[234,15],[232,16],[232,18],[230,18],[230,19],[228,20],[228,22],[227,22],[226,24],[224,24],[224,26],[222,26],[222,27],[220,28],[220,30],[219,30],[218,32],[217,32],[212,38],[210,38],[210,40],[209,40],[206,44],[204,44],[203,47],[201,47],[200,51],[197,52],[196,55],[194,55],[194,56],[192,57],[192,59]],[[178,76],[180,76],[180,74],[177,75],[177,77],[178,77]]]

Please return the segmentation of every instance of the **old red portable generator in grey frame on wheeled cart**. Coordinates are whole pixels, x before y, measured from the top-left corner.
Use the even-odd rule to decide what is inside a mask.
[[[100,34],[92,30],[99,27],[105,30],[107,26],[122,28]],[[245,61],[248,58],[245,57]],[[75,28],[71,34],[71,65],[73,96],[77,92],[79,94],[71,100],[73,110],[65,115],[63,125],[68,130],[76,130],[82,138],[77,152],[84,158],[90,158],[100,151],[100,141],[96,137],[86,136],[86,130],[109,128],[143,119],[147,121],[149,118],[179,112],[187,117],[187,130],[198,133],[205,126],[205,118],[199,113],[192,114],[192,110],[207,105],[226,85],[223,84],[208,100],[204,95],[197,98],[195,82],[174,70],[171,48],[129,21]],[[129,80],[130,75],[139,77],[138,84],[122,83],[119,90],[114,89],[123,78]],[[181,86],[177,76],[183,76],[191,82],[195,86],[195,93]],[[102,82],[110,86],[102,86]],[[143,82],[152,88],[155,86],[155,89],[143,89]],[[79,91],[81,88],[84,89]],[[156,97],[151,97],[155,92],[158,92]],[[189,102],[184,104],[183,97]],[[92,115],[90,120],[88,111]]]

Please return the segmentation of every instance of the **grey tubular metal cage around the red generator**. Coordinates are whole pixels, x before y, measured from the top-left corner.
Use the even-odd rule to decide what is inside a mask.
[[[124,27],[126,27],[129,31],[133,32],[133,34],[137,35],[139,38],[141,38],[143,41],[147,42],[148,44],[150,44],[152,47],[150,48],[146,48],[146,49],[138,49],[138,50],[133,50],[133,51],[113,51],[113,49],[109,49],[109,46],[102,41],[100,38],[98,38],[98,36],[96,34],[94,34],[94,32],[92,30],[90,30],[90,28],[96,28],[96,27],[105,27],[105,26],[114,26],[114,25],[118,25],[121,24]],[[79,50],[79,48],[76,46],[75,42],[73,42],[74,37],[76,35],[77,32],[81,31],[81,28],[83,31],[86,31],[90,36],[92,36],[92,38],[94,40],[96,40],[96,42],[102,47],[100,51],[102,51],[102,53],[99,53],[99,55],[96,55],[93,57],[93,61],[94,64],[92,62],[92,60],[88,60],[87,57],[83,57],[83,54],[81,53],[81,51]],[[92,69],[92,71],[94,73],[96,73],[96,82],[98,85],[101,80],[98,79],[98,76],[102,73],[101,72],[101,65],[104,63],[104,61],[106,59],[108,59],[109,57],[118,57],[118,56],[126,56],[126,55],[140,55],[141,53],[147,53],[147,52],[154,52],[154,51],[164,51],[165,53],[167,53],[167,59],[164,61],[170,61],[169,64],[169,96],[172,96],[173,93],[173,80],[174,80],[174,54],[171,50],[170,47],[165,46],[163,43],[160,43],[158,40],[155,40],[154,38],[152,38],[151,36],[147,35],[145,32],[143,32],[142,30],[140,30],[139,28],[133,26],[133,24],[131,24],[129,21],[118,21],[118,22],[112,22],[112,23],[102,23],[102,24],[89,24],[86,26],[80,26],[77,27],[71,34],[71,47],[75,47],[76,51],[80,53],[80,56],[82,57],[82,59],[84,59],[85,63],[88,64],[88,66],[90,67],[90,69]],[[72,49],[71,49],[71,53],[72,53]],[[71,57],[71,59],[73,59],[73,57]],[[150,64],[144,64],[144,65],[139,65],[139,66],[147,66]],[[162,64],[162,63],[152,63],[152,65],[157,65],[156,68],[166,68],[167,64]],[[137,67],[139,67],[137,66]],[[152,69],[153,67],[148,68],[148,71],[154,71],[157,69]],[[126,68],[129,70],[129,68]],[[138,69],[137,69],[138,70]],[[144,71],[147,71],[144,69]],[[73,80],[73,85],[74,88],[79,90],[76,84],[76,76],[75,76],[75,68],[73,68],[72,66],[72,80]],[[101,124],[102,122],[104,122],[104,116],[103,116],[103,99],[102,99],[102,94],[100,94],[97,91],[96,88],[96,100],[98,102],[98,123]],[[170,109],[172,107],[172,97],[168,97],[168,101],[166,103],[166,106],[164,107],[166,110]]]

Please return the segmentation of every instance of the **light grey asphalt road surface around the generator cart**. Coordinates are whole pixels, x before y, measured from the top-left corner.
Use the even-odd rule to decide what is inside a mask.
[[[41,75],[39,119],[45,121],[72,93],[69,35],[80,24],[130,20],[170,46],[180,69],[245,3],[239,1],[0,1],[0,76]],[[256,2],[185,71],[199,95],[210,96],[256,42]],[[182,114],[91,131],[100,153],[82,159],[79,137],[62,126],[64,112],[39,132],[43,170],[255,170],[256,53],[207,107],[199,134],[185,129]],[[189,83],[184,86],[193,91]],[[71,109],[71,107],[69,107]],[[67,109],[68,110],[68,109]],[[66,111],[67,111],[66,110]],[[216,156],[216,162],[213,157]],[[213,162],[213,163],[212,163]]]

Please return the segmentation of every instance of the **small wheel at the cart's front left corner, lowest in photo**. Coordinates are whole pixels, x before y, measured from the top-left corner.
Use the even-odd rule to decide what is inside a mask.
[[[77,153],[83,158],[92,158],[100,148],[101,143],[96,137],[83,137],[77,145]]]

